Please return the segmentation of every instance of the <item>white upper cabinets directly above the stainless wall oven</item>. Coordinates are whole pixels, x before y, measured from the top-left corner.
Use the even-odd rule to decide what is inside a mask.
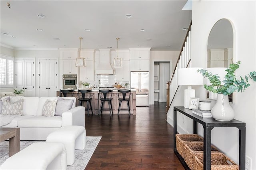
[[[76,67],[76,58],[79,56],[78,54],[78,48],[60,49],[60,73],[78,74],[78,67]]]

